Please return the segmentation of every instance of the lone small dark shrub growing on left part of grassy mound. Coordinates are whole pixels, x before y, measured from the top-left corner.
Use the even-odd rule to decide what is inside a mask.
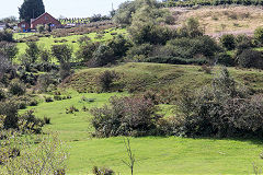
[[[117,79],[118,75],[115,71],[104,71],[96,78],[96,84],[99,88],[99,92],[110,92],[113,86],[113,82]]]

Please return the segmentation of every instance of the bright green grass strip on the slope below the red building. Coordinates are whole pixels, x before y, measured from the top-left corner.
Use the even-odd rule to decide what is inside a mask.
[[[41,48],[44,48],[44,49],[49,49],[52,48],[53,45],[59,45],[59,44],[68,44],[69,46],[71,46],[73,48],[73,51],[77,51],[79,46],[78,46],[78,39],[82,36],[89,36],[91,38],[92,42],[105,42],[105,40],[108,40],[111,38],[113,38],[113,33],[115,34],[126,34],[126,30],[105,30],[105,34],[103,34],[102,38],[96,38],[98,34],[96,33],[90,33],[90,34],[87,34],[87,35],[71,35],[71,36],[67,36],[67,37],[41,37],[39,40],[37,42],[37,45],[41,47]],[[28,34],[25,34],[25,36],[31,36],[33,34],[28,33]],[[23,34],[21,33],[16,33],[14,35],[14,38],[19,37],[19,36],[23,36]],[[20,37],[19,37],[20,38]],[[55,40],[62,40],[65,39],[66,42],[64,43],[55,43]],[[26,49],[26,44],[25,43],[19,43],[18,44],[18,47],[19,47],[19,54],[18,54],[18,57],[22,54],[25,52],[25,49]]]

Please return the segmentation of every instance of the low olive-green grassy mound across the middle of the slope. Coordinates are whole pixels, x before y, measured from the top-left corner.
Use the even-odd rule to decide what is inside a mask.
[[[78,92],[94,92],[96,90],[95,79],[105,71],[114,70],[121,74],[115,81],[116,90],[167,89],[172,88],[174,92],[182,90],[195,90],[207,85],[219,72],[215,67],[211,73],[206,73],[199,66],[178,66],[161,63],[124,63],[113,68],[92,68],[77,71],[66,83]],[[258,70],[240,70],[229,68],[231,75],[240,83],[254,91],[263,88],[263,72]]]

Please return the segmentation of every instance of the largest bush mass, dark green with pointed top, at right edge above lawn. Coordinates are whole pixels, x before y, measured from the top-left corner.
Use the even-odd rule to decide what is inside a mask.
[[[182,95],[186,136],[262,137],[263,100],[249,96],[224,69],[211,86]]]

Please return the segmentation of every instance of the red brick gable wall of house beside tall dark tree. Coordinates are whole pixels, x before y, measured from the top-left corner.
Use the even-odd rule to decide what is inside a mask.
[[[45,24],[54,24],[56,27],[61,26],[60,22],[58,20],[56,20],[55,18],[53,18],[48,13],[44,13],[39,18],[35,19],[31,23],[31,28],[36,28],[36,26],[39,25],[39,24],[43,24],[43,25],[45,25]]]

